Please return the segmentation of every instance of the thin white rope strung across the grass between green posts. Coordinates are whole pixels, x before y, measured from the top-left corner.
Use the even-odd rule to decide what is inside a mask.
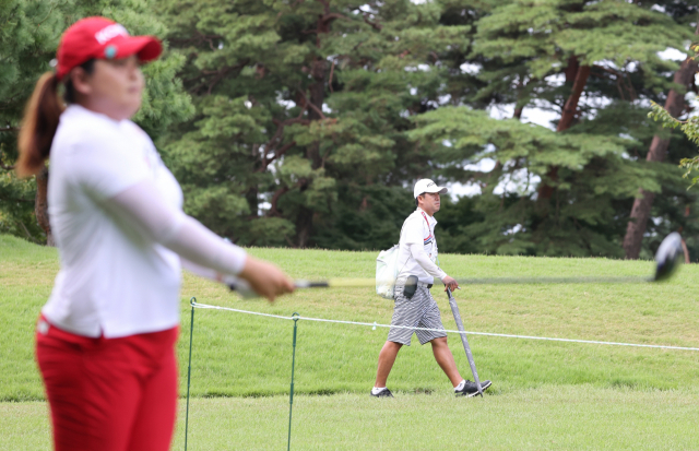
[[[523,339],[523,340],[543,340],[548,342],[567,342],[567,343],[588,343],[588,344],[605,344],[613,346],[632,346],[632,347],[652,347],[656,349],[676,349],[676,351],[699,351],[699,347],[682,347],[682,346],[663,346],[655,344],[638,344],[638,343],[617,343],[617,342],[599,342],[594,340],[572,340],[572,339],[554,339],[547,336],[531,336],[531,335],[512,335],[507,333],[491,333],[491,332],[467,332],[467,331],[452,331],[449,329],[428,329],[428,328],[412,328],[410,325],[391,325],[391,324],[379,324],[379,323],[370,323],[370,322],[356,322],[356,321],[341,321],[341,320],[329,320],[324,318],[310,318],[310,317],[301,317],[301,316],[293,316],[293,317],[283,317],[281,314],[270,314],[270,313],[261,313],[259,311],[248,311],[248,310],[239,310],[229,307],[221,307],[221,306],[210,306],[206,304],[199,304],[197,301],[190,302],[192,307],[201,308],[201,309],[213,309],[213,310],[226,310],[226,311],[235,311],[236,313],[245,313],[245,314],[256,314],[259,317],[268,317],[268,318],[277,318],[281,320],[305,320],[305,321],[317,321],[317,322],[333,322],[337,324],[355,324],[355,325],[368,325],[371,329],[376,330],[376,328],[392,328],[392,329],[412,329],[415,331],[430,331],[430,332],[447,332],[447,333],[459,333],[459,334],[469,334],[469,335],[485,335],[485,336],[500,336],[505,339]]]

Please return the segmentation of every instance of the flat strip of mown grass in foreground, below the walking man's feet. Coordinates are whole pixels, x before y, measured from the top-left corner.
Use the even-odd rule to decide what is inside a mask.
[[[294,397],[295,450],[691,450],[699,394],[542,385],[499,396]],[[183,449],[180,402],[173,449]],[[191,402],[189,450],[286,449],[288,397]],[[0,404],[0,449],[49,450],[45,403]],[[19,446],[21,443],[21,446]]]

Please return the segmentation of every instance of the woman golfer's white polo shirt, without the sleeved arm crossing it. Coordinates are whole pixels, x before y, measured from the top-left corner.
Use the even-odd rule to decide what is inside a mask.
[[[49,221],[61,263],[42,310],[49,323],[105,337],[179,324],[179,257],[104,207],[144,180],[181,210],[181,189],[143,130],[78,105],[66,109],[49,166]]]

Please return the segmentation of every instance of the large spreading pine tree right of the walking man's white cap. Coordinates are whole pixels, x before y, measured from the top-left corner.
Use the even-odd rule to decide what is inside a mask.
[[[443,155],[445,175],[483,187],[469,201],[483,221],[458,232],[482,251],[621,257],[638,188],[659,192],[676,180],[672,167],[637,155],[648,149],[644,104],[672,86],[663,73],[677,68],[657,52],[682,48],[691,29],[650,7],[512,1],[478,20],[472,58],[488,83],[478,96],[513,105],[516,120],[442,108],[417,118],[412,138]],[[558,112],[556,131],[517,123],[529,107]],[[496,161],[493,171],[460,169],[483,158]]]

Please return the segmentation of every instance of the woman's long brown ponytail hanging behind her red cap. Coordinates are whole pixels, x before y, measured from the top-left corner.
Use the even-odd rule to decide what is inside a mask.
[[[15,170],[20,177],[37,174],[51,151],[58,119],[64,109],[58,83],[54,72],[42,75],[26,105],[17,142],[20,158]]]

